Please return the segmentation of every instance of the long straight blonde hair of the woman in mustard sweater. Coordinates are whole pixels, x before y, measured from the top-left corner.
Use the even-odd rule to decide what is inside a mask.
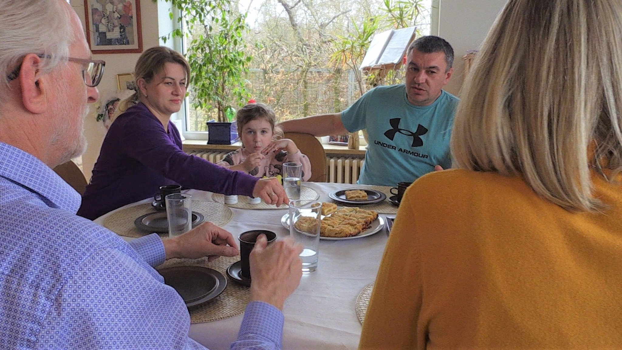
[[[521,175],[567,210],[622,166],[620,0],[510,0],[483,42],[458,105],[455,167]]]

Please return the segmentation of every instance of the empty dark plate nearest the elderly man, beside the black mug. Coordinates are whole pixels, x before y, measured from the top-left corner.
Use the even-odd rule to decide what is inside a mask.
[[[174,266],[158,270],[164,283],[175,288],[188,308],[207,303],[225,290],[227,280],[220,272],[202,266]]]

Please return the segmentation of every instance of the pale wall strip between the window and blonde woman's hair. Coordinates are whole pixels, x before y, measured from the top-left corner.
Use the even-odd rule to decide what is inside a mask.
[[[458,95],[464,80],[462,57],[477,50],[507,0],[440,0],[438,34],[453,47],[453,77],[445,86]]]

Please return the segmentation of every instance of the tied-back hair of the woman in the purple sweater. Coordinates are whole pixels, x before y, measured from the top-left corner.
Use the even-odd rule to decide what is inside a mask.
[[[160,73],[164,69],[166,63],[177,63],[183,67],[186,71],[186,80],[190,80],[190,65],[185,57],[181,53],[165,46],[156,46],[148,48],[141,54],[141,57],[136,61],[136,67],[134,68],[134,89],[136,91],[129,98],[124,99],[119,103],[119,112],[124,112],[131,106],[134,106],[141,99],[141,89],[138,87],[137,81],[144,79],[147,83],[151,82],[157,73]],[[186,85],[187,86],[187,85]],[[117,114],[118,115],[118,114]]]

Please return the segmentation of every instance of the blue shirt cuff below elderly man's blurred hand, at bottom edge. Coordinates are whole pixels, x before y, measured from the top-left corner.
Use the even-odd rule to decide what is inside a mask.
[[[244,311],[238,339],[231,349],[253,345],[259,349],[281,349],[284,316],[281,310],[264,302],[250,302]]]

